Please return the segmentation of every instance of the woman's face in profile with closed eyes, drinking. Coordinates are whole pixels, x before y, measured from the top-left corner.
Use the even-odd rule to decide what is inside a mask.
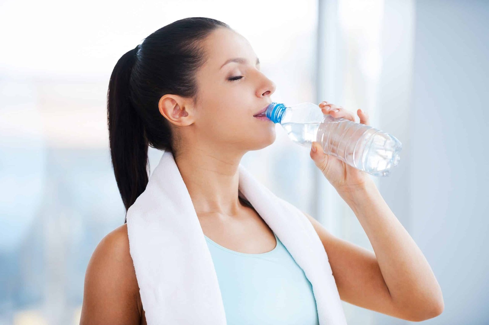
[[[184,146],[244,154],[272,144],[275,124],[253,115],[272,102],[276,87],[260,71],[250,44],[238,33],[218,28],[203,47],[207,60],[197,73],[199,99],[186,116],[193,123],[178,128],[184,133]],[[229,62],[236,58],[240,59]]]

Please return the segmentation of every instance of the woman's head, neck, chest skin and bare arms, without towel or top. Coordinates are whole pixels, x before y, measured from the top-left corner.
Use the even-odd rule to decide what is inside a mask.
[[[243,254],[277,247],[267,223],[238,195],[244,153],[275,140],[274,123],[254,117],[274,91],[249,43],[213,19],[173,22],[124,54],[111,75],[108,120],[126,210],[148,183],[150,145],[173,153],[207,238]],[[331,103],[319,107],[355,121]],[[365,113],[357,114],[368,124]],[[440,286],[369,175],[324,154],[317,142],[310,155],[355,212],[376,253],[333,237],[305,214],[327,252],[341,300],[410,321],[439,315]],[[226,312],[228,324],[235,317]],[[89,261],[80,324],[146,324],[126,222],[100,241]]]

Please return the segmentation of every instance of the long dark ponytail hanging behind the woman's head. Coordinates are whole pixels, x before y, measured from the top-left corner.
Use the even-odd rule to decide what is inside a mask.
[[[148,184],[148,139],[143,121],[133,106],[130,87],[138,49],[139,45],[119,59],[107,93],[112,168],[126,212]]]

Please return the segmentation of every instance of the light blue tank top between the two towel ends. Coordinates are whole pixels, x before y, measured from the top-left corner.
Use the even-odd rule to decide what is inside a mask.
[[[319,325],[311,282],[280,239],[273,250],[246,254],[207,236],[227,325]]]

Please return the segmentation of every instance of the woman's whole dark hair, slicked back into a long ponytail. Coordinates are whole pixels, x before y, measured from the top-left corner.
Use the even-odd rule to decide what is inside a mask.
[[[165,94],[197,102],[196,73],[206,59],[200,45],[217,28],[230,29],[205,17],[172,22],[124,54],[112,71],[107,92],[109,145],[126,215],[148,185],[148,147],[174,153],[172,126],[159,112],[158,102]]]

